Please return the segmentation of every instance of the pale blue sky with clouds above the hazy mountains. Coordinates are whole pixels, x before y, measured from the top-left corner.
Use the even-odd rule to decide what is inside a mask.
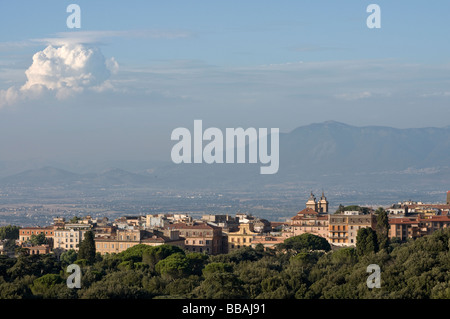
[[[81,28],[68,28],[70,4]],[[381,28],[366,11],[381,9]],[[0,161],[170,159],[171,132],[443,127],[449,1],[1,1]]]

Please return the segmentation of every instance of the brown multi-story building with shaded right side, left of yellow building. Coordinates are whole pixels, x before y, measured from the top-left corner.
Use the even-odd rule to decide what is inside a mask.
[[[180,231],[185,238],[185,249],[205,254],[221,254],[226,252],[222,228],[204,222],[175,223],[168,229]],[[224,247],[225,246],[225,247]]]

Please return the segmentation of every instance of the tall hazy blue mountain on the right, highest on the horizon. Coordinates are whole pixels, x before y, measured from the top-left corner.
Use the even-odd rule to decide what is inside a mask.
[[[448,167],[450,128],[311,124],[280,137],[280,161],[283,171],[302,175]]]

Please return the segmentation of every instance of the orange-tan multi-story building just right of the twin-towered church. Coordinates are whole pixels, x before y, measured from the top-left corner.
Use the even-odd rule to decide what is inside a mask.
[[[376,216],[372,213],[344,212],[328,216],[328,242],[336,246],[355,246],[358,230],[376,226]]]

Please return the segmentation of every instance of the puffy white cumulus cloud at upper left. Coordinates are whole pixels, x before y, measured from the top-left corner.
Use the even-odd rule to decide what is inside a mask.
[[[25,71],[27,80],[24,85],[0,91],[0,107],[38,98],[44,92],[50,92],[58,99],[84,90],[100,92],[111,88],[108,79],[117,69],[114,58],[106,59],[96,47],[49,45],[34,54],[33,63]]]

